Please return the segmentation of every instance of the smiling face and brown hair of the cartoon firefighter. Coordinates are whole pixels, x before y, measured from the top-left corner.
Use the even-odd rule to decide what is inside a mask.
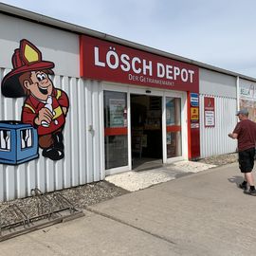
[[[48,77],[51,72],[51,70],[26,72],[20,76],[19,82],[23,85],[27,95],[32,94],[38,100],[46,101],[53,89],[53,83]]]

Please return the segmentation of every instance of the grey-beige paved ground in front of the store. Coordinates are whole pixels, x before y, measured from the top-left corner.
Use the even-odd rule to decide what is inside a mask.
[[[131,192],[0,243],[0,255],[255,255],[256,196],[237,163]]]

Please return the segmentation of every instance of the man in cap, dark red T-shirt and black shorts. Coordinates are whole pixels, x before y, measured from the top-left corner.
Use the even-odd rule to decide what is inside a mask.
[[[245,190],[247,194],[256,195],[254,178],[251,173],[254,166],[256,123],[248,119],[247,109],[239,110],[236,116],[238,116],[240,122],[237,123],[233,133],[229,134],[229,137],[237,138],[239,168],[241,173],[245,174],[245,180],[239,184],[239,187]],[[247,184],[249,185],[248,191]]]

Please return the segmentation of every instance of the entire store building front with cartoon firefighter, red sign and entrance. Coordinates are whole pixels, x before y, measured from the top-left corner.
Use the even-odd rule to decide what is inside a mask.
[[[0,9],[0,201],[100,181],[148,161],[235,151],[227,134],[239,102],[254,102],[254,79],[27,10]],[[23,94],[37,84],[27,72],[52,88],[38,86],[36,108]],[[40,105],[52,112],[47,147]]]

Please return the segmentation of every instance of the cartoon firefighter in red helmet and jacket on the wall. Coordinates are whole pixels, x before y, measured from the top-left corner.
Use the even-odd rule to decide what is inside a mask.
[[[42,60],[41,51],[23,39],[14,50],[12,65],[2,81],[2,94],[8,98],[26,97],[22,123],[37,130],[42,155],[52,160],[64,158],[63,130],[69,101],[49,77],[54,74],[54,63]]]

